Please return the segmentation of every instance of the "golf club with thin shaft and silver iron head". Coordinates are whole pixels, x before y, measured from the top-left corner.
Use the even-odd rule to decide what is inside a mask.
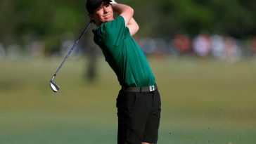
[[[63,64],[65,63],[65,60],[67,60],[68,56],[70,55],[70,53],[73,51],[73,49],[75,48],[75,45],[77,45],[79,39],[82,37],[82,35],[84,34],[84,32],[87,31],[88,27],[91,25],[91,21],[88,22],[87,26],[84,28],[84,30],[82,31],[82,33],[79,35],[77,41],[75,42],[75,44],[72,46],[72,48],[70,49],[70,51],[68,52],[68,55],[66,55],[65,59],[63,60],[63,62],[60,64],[60,66],[58,67],[58,69],[56,70],[55,74],[53,74],[53,77],[51,78],[50,81],[50,87],[54,92],[58,92],[58,90],[60,90],[60,86],[58,86],[57,84],[54,84],[53,79],[56,77],[56,75],[58,74],[58,71],[60,70],[60,68],[63,66]]]

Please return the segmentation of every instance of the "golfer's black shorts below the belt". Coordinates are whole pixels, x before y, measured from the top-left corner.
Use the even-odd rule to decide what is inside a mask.
[[[157,143],[161,100],[158,90],[120,90],[117,96],[118,144]]]

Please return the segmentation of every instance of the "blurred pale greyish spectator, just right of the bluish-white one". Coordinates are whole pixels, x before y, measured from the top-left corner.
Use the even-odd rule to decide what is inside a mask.
[[[235,62],[240,57],[240,48],[237,42],[231,37],[224,39],[224,60]]]

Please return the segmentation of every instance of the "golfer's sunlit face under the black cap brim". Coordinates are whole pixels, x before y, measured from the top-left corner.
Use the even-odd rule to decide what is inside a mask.
[[[96,25],[113,20],[112,6],[109,3],[102,2],[101,6],[94,11],[94,14],[89,14],[89,16]]]

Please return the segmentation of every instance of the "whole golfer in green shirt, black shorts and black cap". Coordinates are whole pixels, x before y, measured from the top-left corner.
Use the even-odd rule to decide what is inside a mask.
[[[116,103],[117,143],[157,143],[160,94],[146,56],[132,37],[139,30],[134,10],[110,0],[87,0],[86,6],[96,25],[92,30],[94,42],[122,86]],[[113,12],[117,18],[113,18]]]

